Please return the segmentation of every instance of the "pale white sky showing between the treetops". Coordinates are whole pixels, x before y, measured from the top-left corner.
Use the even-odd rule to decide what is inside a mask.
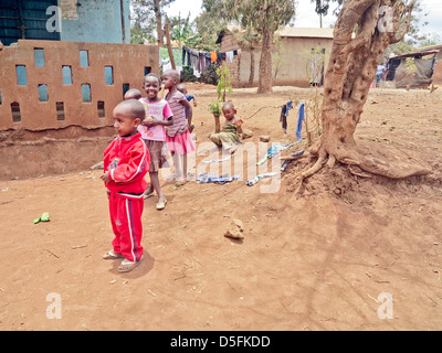
[[[315,13],[315,6],[311,0],[296,0],[296,19],[294,25],[297,28],[319,28],[319,17]],[[423,12],[428,15],[424,21],[429,24],[421,28],[421,33],[432,34],[436,33],[442,41],[442,1],[441,0],[421,0]],[[201,0],[176,0],[166,12],[170,15],[187,17],[190,12],[190,19],[193,20],[201,13]],[[333,14],[333,6],[326,17],[323,18],[323,26],[329,28],[335,23],[336,17]],[[424,22],[422,21],[422,22]]]

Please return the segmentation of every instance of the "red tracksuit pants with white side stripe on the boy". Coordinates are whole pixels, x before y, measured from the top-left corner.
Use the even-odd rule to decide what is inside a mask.
[[[114,252],[130,261],[139,261],[143,255],[141,214],[144,199],[129,199],[114,192],[109,194],[109,214],[115,238]]]

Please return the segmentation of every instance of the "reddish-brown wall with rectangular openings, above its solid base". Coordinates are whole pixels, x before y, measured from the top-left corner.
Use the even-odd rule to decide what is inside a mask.
[[[86,67],[82,66],[81,52],[87,53]],[[18,45],[3,46],[0,131],[112,126],[113,108],[123,100],[124,89],[141,89],[145,73],[158,73],[158,61],[157,46],[137,44],[20,40]],[[39,92],[41,85],[45,85],[46,101],[42,101],[46,97],[44,89]]]

